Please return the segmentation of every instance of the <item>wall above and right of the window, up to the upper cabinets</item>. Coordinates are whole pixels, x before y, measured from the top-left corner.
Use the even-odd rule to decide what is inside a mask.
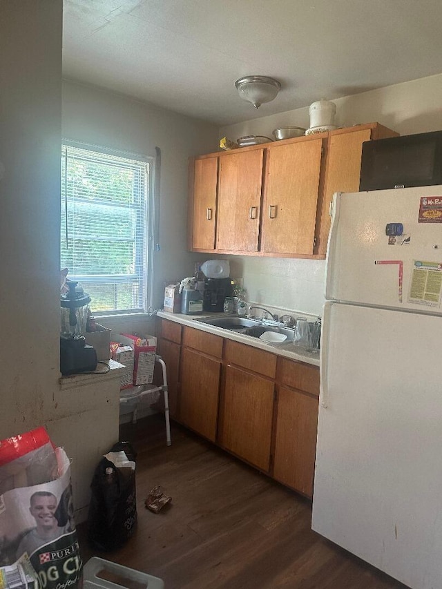
[[[113,93],[63,82],[62,135],[88,144],[155,155],[161,149],[160,245],[155,252],[154,307],[164,282],[193,276],[200,256],[186,245],[188,160],[216,150],[218,127]],[[93,307],[93,302],[91,303]]]

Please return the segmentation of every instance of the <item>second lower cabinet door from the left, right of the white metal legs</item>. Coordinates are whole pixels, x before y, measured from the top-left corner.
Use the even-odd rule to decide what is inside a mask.
[[[221,361],[184,347],[181,356],[180,421],[215,441]]]

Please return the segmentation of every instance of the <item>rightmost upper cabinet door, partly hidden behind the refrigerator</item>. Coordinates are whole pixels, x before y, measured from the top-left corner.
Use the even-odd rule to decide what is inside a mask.
[[[318,228],[318,244],[315,253],[327,253],[327,241],[331,218],[329,205],[333,194],[340,192],[358,192],[359,176],[361,175],[362,144],[369,141],[372,129],[360,131],[331,132],[325,164],[325,188],[321,210],[318,211],[320,225]]]

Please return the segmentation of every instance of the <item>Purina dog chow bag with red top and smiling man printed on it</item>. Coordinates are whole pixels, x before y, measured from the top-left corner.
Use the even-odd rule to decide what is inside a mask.
[[[75,589],[82,562],[66,452],[42,427],[2,440],[0,482],[0,586]]]

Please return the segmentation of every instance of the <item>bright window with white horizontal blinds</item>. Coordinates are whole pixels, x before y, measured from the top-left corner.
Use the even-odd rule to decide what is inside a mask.
[[[150,162],[61,148],[61,268],[97,311],[144,311]]]

